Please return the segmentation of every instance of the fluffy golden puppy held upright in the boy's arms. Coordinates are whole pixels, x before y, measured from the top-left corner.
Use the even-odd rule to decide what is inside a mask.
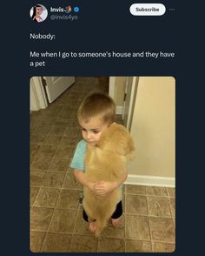
[[[91,182],[118,181],[122,179],[125,165],[133,158],[134,144],[123,125],[116,123],[102,133],[97,146],[88,145],[85,155],[85,176]],[[99,236],[116,210],[120,191],[116,188],[106,196],[97,195],[88,187],[83,188],[83,207],[89,221],[96,220]]]

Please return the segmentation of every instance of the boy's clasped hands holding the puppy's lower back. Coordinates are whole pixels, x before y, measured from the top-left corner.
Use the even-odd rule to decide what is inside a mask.
[[[99,181],[96,182],[94,185],[94,190],[98,195],[105,196],[109,194],[109,192],[112,192],[119,184],[115,182],[109,182],[109,181]]]

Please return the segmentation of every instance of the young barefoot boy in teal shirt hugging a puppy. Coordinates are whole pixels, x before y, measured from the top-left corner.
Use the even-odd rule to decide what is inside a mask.
[[[82,184],[89,187],[90,190],[103,196],[112,192],[116,187],[122,188],[122,183],[127,179],[128,173],[124,174],[120,182],[89,182],[84,175],[84,155],[86,152],[86,145],[97,145],[101,138],[102,132],[105,131],[109,125],[114,123],[116,115],[116,104],[107,95],[102,93],[92,93],[83,99],[82,104],[77,112],[79,125],[82,127],[83,139],[77,144],[76,152],[70,164],[74,168],[74,175],[76,179]],[[111,216],[111,223],[116,226],[122,217],[122,198],[119,199],[116,205],[116,212]],[[87,222],[88,216],[83,210],[83,219]],[[89,222],[89,231],[96,231],[96,223]]]

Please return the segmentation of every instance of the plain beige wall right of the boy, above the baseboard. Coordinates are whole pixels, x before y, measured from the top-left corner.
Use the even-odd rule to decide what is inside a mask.
[[[175,179],[175,79],[140,77],[133,113],[131,136],[136,158],[129,174]],[[162,181],[161,181],[162,182]]]

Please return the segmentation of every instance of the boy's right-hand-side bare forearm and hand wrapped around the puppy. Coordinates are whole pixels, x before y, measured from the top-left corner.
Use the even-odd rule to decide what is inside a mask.
[[[99,195],[106,195],[109,192],[112,192],[114,189],[116,189],[119,185],[122,185],[124,181],[128,177],[128,171],[123,173],[122,178],[118,181],[100,181],[94,184],[94,190],[96,191],[97,194]]]

